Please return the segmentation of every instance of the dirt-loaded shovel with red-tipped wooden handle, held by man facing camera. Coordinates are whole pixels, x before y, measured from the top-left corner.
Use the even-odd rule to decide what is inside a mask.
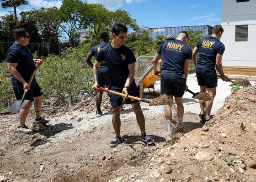
[[[117,96],[126,96],[125,94],[123,93],[120,93],[120,92],[117,92],[117,91],[112,91],[112,90],[108,90],[106,88],[102,88],[102,87],[94,87],[93,88],[94,90],[97,90],[97,91],[107,91],[109,93],[112,93],[112,94],[115,94]],[[164,94],[165,95],[165,94]],[[141,99],[139,97],[135,97],[135,96],[128,96],[129,99],[133,99],[133,100],[136,100],[136,101],[142,101],[142,102],[147,102],[149,103],[149,106],[159,106],[159,105],[165,105],[165,104],[169,104],[170,103],[170,98],[168,96],[164,96],[164,95],[161,95],[159,97],[156,97],[155,99],[153,99],[152,101],[149,101],[147,99]],[[168,99],[169,98],[169,99]],[[172,102],[172,101],[171,101]]]

